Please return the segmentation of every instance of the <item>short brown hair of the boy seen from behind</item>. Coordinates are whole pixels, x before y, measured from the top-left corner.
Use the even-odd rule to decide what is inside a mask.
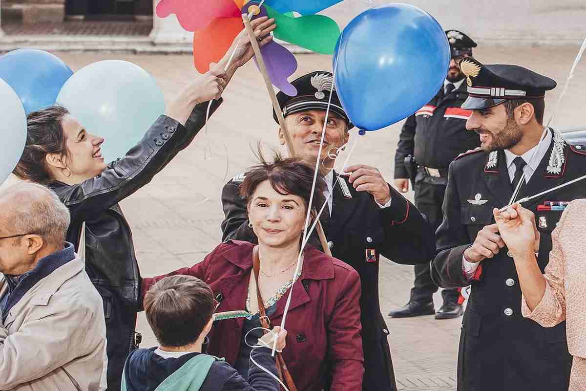
[[[165,277],[152,285],[144,300],[147,320],[163,346],[197,341],[216,310],[212,289],[193,276]]]

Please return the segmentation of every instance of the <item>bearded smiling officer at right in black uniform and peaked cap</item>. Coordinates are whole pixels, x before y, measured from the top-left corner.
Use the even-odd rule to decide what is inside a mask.
[[[444,220],[437,231],[434,281],[444,288],[471,284],[458,353],[458,391],[567,390],[571,356],[565,322],[542,328],[523,318],[515,263],[493,220],[492,209],[537,195],[586,174],[586,147],[568,145],[560,132],[544,134],[544,94],[556,82],[516,65],[483,65],[463,59],[472,110],[466,128],[481,148],[449,166]],[[586,197],[584,182],[524,202],[540,232],[538,262],[548,263],[554,208]],[[553,205],[553,206],[552,206]]]

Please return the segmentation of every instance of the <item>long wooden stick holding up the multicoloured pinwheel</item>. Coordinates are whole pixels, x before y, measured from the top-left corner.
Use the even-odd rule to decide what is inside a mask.
[[[295,157],[295,148],[293,147],[293,142],[291,141],[291,135],[285,127],[285,117],[283,117],[283,112],[281,110],[281,106],[279,106],[279,101],[277,100],[277,95],[275,94],[275,90],[272,88],[272,83],[270,77],[268,77],[267,67],[264,65],[263,55],[260,52],[260,47],[258,46],[258,41],[256,40],[256,36],[254,35],[254,30],[250,25],[250,19],[248,19],[248,15],[246,13],[242,14],[242,20],[244,21],[244,27],[246,28],[246,32],[248,33],[248,38],[250,39],[250,45],[253,47],[254,55],[256,56],[256,60],[258,63],[258,68],[260,69],[260,73],[263,75],[264,84],[267,86],[268,96],[271,97],[272,101],[272,108],[275,109],[275,113],[277,113],[277,120],[279,121],[279,126],[281,127],[281,131],[285,135],[285,145],[287,145],[287,151],[289,152],[289,156]],[[318,232],[319,242],[322,244],[323,252],[332,256],[332,251],[328,246],[328,239],[326,239],[326,235],[323,232],[323,227],[321,222],[318,222],[318,225],[315,226],[315,229]]]

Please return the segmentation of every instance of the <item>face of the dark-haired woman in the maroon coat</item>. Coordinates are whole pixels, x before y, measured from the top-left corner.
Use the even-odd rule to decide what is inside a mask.
[[[287,247],[299,243],[305,224],[305,202],[296,195],[282,195],[270,181],[259,183],[248,203],[248,219],[258,243]]]

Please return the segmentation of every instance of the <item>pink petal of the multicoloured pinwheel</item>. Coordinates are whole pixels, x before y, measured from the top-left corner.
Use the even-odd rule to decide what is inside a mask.
[[[160,18],[171,13],[175,13],[179,24],[187,31],[203,29],[214,18],[240,18],[241,15],[233,0],[161,0],[156,5],[156,15]]]

